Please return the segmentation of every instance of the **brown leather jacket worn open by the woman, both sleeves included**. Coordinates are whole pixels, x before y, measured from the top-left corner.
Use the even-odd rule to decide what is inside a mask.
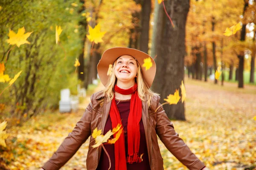
[[[105,102],[106,100],[104,100],[104,104],[100,106],[99,99],[102,97],[104,96],[101,91],[91,96],[91,102],[79,122],[76,123],[76,127],[64,139],[58,150],[42,168],[45,170],[60,169],[76,153],[96,127],[104,131],[111,102]],[[186,167],[190,170],[201,170],[204,164],[190,151],[178,133],[175,132],[172,122],[168,119],[159,101],[160,96],[154,95],[151,107],[148,108],[147,102],[143,102],[142,109],[142,120],[151,170],[163,170],[163,158],[157,143],[157,135],[166,148]],[[157,112],[154,112],[156,109]],[[92,140],[93,138],[90,136],[86,160],[87,170],[96,170],[102,151],[102,147],[99,147],[99,149],[91,147],[94,144],[94,142],[91,142]]]

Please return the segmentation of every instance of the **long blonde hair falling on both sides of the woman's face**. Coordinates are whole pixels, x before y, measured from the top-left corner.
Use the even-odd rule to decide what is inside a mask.
[[[114,69],[116,66],[117,59],[115,60],[115,62],[113,64],[112,74],[110,75],[110,77],[108,77],[108,83],[106,85],[106,88],[105,88],[105,90],[102,91],[103,95],[107,97],[107,102],[110,102],[114,97],[114,86],[115,86],[116,80],[117,80],[116,75],[114,74]],[[136,60],[136,62],[137,62],[138,68],[137,68],[137,78],[135,78],[135,82],[137,82],[137,85],[138,85],[138,90],[137,90],[138,95],[142,101],[147,101],[148,107],[150,107],[151,99],[154,96],[154,94],[157,94],[157,93],[154,93],[153,91],[151,91],[151,89],[145,83],[143,76],[142,76],[140,64],[137,60]]]

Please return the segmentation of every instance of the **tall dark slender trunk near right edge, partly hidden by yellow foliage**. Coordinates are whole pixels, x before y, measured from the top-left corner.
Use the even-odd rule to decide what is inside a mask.
[[[246,8],[248,7],[248,1],[244,1],[244,12],[246,11]],[[246,24],[243,24],[241,29],[241,38],[240,41],[245,40],[245,33],[246,33]],[[237,56],[239,58],[239,77],[238,77],[238,88],[244,88],[244,51],[240,51],[239,55]]]

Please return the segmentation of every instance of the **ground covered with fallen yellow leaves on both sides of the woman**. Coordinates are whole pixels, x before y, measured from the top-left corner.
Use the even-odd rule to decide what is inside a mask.
[[[186,119],[172,121],[175,130],[209,169],[243,170],[256,166],[256,86],[237,89],[185,80]],[[102,86],[96,89],[98,91]],[[164,97],[164,96],[162,96]],[[90,98],[78,113],[45,113],[22,127],[11,127],[1,157],[13,170],[34,170],[47,161],[81,118]],[[165,170],[186,169],[159,141]],[[88,141],[62,167],[86,170]]]

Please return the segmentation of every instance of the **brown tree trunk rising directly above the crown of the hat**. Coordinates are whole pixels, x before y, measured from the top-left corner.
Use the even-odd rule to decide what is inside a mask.
[[[140,34],[140,51],[148,54],[149,20],[151,13],[151,0],[143,0]]]

